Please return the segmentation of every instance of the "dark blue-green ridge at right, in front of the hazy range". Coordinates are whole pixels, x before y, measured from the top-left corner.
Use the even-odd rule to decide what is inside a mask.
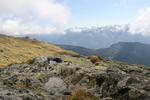
[[[58,45],[86,56],[102,56],[130,64],[150,65],[150,45],[138,42],[119,42],[104,49],[87,49],[80,46]]]

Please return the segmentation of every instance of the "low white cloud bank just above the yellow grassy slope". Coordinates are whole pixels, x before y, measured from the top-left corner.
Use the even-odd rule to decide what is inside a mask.
[[[9,35],[49,34],[58,32],[56,27],[42,27],[33,23],[23,24],[21,19],[1,21],[0,30],[2,33]]]

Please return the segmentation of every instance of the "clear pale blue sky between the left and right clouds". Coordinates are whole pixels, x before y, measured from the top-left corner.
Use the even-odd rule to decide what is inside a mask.
[[[67,0],[70,10],[68,26],[128,24],[150,0]]]

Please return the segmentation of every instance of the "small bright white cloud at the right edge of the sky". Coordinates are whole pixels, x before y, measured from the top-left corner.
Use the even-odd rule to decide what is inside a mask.
[[[130,32],[150,36],[150,8],[139,11],[139,16],[130,25]]]

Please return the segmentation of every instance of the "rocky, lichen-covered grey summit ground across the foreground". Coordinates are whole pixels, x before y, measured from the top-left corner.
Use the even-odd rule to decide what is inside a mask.
[[[150,100],[150,67],[42,56],[0,68],[0,100]]]

